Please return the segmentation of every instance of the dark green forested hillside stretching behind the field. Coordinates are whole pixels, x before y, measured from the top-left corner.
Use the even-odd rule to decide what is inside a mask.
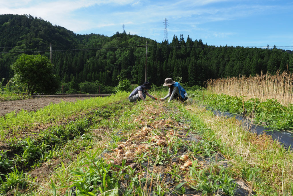
[[[253,35],[252,35],[253,36]],[[163,36],[162,36],[163,37]],[[174,35],[172,41],[157,42],[138,35],[117,33],[79,35],[61,26],[30,15],[0,15],[0,78],[8,81],[10,65],[21,53],[45,54],[53,50],[54,72],[63,83],[99,81],[117,85],[117,76],[141,84],[145,76],[148,43],[148,80],[161,85],[166,77],[182,77],[189,86],[209,78],[274,74],[277,70],[293,73],[291,51],[243,47],[214,47],[201,39],[184,40]]]

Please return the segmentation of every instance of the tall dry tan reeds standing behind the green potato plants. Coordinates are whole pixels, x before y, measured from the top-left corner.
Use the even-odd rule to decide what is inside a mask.
[[[207,91],[210,93],[224,93],[230,96],[277,99],[283,105],[293,104],[293,74],[284,71],[276,75],[269,73],[256,76],[242,76],[233,78],[218,78],[207,81]]]

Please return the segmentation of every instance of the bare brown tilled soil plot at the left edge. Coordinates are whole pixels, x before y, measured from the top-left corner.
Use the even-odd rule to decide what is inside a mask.
[[[10,113],[13,110],[15,110],[16,113],[21,111],[21,109],[30,112],[43,108],[49,105],[50,103],[59,103],[62,100],[66,102],[74,102],[77,99],[84,100],[88,98],[90,97],[41,97],[16,101],[3,101],[0,102],[0,117],[4,116],[7,113]]]

